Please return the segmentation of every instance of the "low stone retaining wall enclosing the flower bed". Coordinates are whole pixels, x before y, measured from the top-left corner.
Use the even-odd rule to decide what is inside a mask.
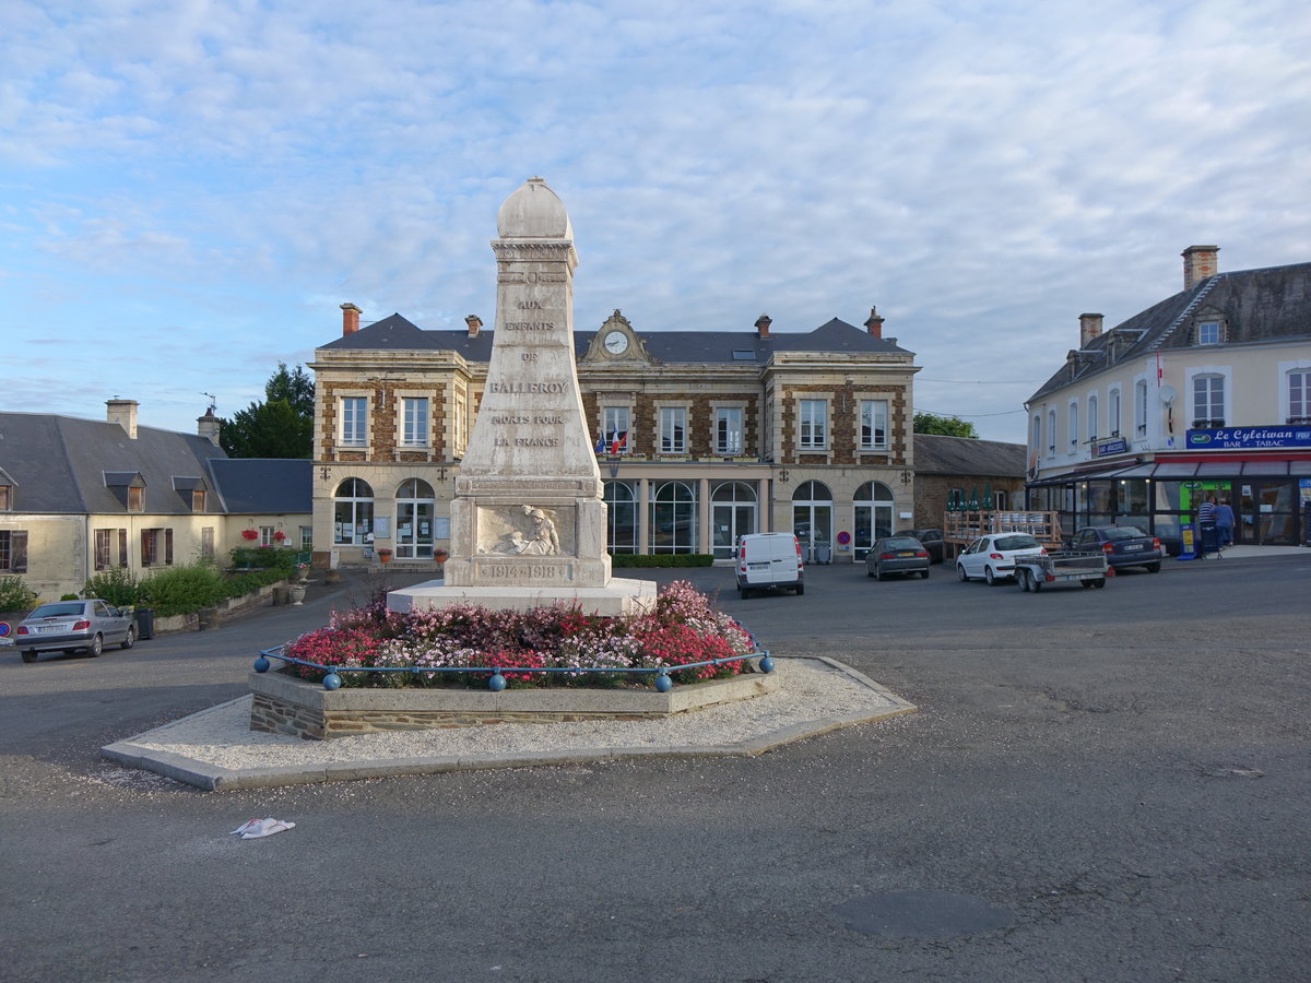
[[[250,729],[328,741],[382,730],[657,720],[777,692],[776,672],[656,689],[324,689],[287,672],[250,672]]]

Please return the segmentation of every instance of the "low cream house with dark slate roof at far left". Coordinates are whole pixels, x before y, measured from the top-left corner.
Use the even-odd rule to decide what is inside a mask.
[[[211,413],[178,434],[140,426],[134,400],[106,405],[105,421],[0,413],[0,577],[58,600],[114,568],[222,562],[252,545],[244,530],[309,548],[308,460],[228,460]]]

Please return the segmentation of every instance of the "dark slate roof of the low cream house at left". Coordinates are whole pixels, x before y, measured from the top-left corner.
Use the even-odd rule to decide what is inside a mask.
[[[0,412],[0,469],[17,486],[16,512],[126,514],[125,489],[138,476],[147,515],[190,515],[194,488],[218,493],[210,512],[224,502],[239,512],[309,512],[313,505],[308,460],[229,461],[195,434],[138,426],[132,440],[118,423],[51,413]]]

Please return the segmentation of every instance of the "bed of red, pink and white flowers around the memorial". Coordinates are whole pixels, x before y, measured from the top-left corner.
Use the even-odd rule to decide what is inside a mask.
[[[505,670],[498,675],[506,685],[528,688],[649,685],[650,671],[663,668],[674,683],[720,679],[741,672],[741,657],[754,651],[742,625],[712,608],[691,583],[675,581],[654,609],[629,617],[564,604],[527,612],[463,604],[401,615],[379,596],[363,608],[333,612],[326,628],[302,636],[283,654],[313,663],[287,667],[313,682],[337,668],[387,670],[341,672],[346,687],[485,688],[490,671],[455,671],[477,667]],[[730,661],[695,665],[717,659]],[[534,668],[555,671],[513,671]],[[614,671],[583,671],[597,668]]]

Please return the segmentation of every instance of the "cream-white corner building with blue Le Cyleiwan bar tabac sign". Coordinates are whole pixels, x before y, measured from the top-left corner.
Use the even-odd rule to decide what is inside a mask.
[[[1030,506],[1079,526],[1139,526],[1177,549],[1207,494],[1239,543],[1307,541],[1311,263],[1219,273],[1184,250],[1184,290],[1103,330],[1025,404]]]

